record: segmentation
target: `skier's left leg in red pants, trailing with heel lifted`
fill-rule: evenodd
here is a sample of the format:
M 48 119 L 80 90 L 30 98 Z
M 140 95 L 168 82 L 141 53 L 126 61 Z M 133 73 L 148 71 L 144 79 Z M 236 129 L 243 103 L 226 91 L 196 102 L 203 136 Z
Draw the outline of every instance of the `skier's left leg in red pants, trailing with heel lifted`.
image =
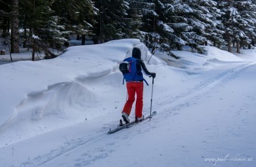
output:
M 135 100 L 135 87 L 133 82 L 127 82 L 127 93 L 128 93 L 128 100 L 125 103 L 125 106 L 123 107 L 123 112 L 125 112 L 127 115 L 130 115 L 131 113 L 131 107 L 133 106 L 133 102 Z

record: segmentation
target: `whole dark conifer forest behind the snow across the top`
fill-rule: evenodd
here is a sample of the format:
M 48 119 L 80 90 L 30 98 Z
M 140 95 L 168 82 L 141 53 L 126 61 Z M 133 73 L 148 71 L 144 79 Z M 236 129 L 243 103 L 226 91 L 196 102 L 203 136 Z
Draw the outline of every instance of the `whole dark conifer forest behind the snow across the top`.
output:
M 44 58 L 63 52 L 71 36 L 100 44 L 139 38 L 156 50 L 204 45 L 250 49 L 256 37 L 256 1 L 218 0 L 0 0 L 0 36 L 11 53 L 19 46 Z M 57 52 L 56 52 L 57 51 Z M 178 57 L 176 57 L 178 58 Z

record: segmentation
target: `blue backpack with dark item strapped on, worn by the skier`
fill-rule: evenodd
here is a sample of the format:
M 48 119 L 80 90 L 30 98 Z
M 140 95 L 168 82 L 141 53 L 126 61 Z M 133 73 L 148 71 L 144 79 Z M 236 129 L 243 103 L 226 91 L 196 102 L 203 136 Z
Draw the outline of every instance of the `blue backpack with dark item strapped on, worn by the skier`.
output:
M 142 70 L 137 71 L 137 58 L 129 57 L 123 60 L 119 65 L 119 70 L 123 74 L 123 84 L 130 81 L 143 80 L 147 85 L 147 81 L 143 78 Z

